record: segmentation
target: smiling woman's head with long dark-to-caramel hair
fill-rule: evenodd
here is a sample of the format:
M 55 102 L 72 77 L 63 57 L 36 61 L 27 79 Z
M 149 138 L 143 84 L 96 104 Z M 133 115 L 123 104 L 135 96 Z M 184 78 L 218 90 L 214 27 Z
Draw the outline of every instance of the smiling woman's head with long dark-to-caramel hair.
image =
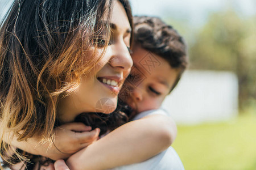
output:
M 1 133 L 7 164 L 26 159 L 8 144 L 13 137 L 53 142 L 56 124 L 96 112 L 98 101 L 109 99 L 112 107 L 101 111 L 114 111 L 132 65 L 130 6 L 119 2 L 126 15 L 112 10 L 112 0 L 14 1 L 0 30 L 1 130 L 12 134 L 4 142 Z

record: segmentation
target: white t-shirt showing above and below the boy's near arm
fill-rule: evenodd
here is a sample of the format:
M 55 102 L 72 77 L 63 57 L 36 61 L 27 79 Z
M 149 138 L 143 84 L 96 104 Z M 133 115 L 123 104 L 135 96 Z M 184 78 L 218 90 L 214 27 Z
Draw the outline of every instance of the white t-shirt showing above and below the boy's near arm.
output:
M 170 116 L 164 109 L 155 109 L 139 113 L 133 120 L 138 120 L 139 118 L 152 114 Z M 170 146 L 167 150 L 144 162 L 112 168 L 111 170 L 184 170 L 184 166 L 177 152 Z

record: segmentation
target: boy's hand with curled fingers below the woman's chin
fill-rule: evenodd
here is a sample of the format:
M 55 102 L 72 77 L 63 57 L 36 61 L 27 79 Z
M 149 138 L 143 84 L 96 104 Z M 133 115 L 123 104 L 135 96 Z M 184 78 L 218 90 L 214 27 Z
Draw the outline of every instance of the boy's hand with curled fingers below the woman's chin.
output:
M 53 160 L 67 159 L 75 152 L 98 139 L 100 129 L 92 130 L 82 123 L 69 123 L 55 128 L 55 141 L 48 148 L 47 157 Z

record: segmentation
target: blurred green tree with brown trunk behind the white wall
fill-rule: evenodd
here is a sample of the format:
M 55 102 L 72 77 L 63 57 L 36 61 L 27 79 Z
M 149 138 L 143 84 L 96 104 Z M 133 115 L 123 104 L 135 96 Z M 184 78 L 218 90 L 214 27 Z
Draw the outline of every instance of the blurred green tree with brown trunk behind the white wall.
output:
M 234 71 L 240 109 L 256 105 L 256 18 L 242 20 L 233 10 L 210 15 L 189 49 L 191 69 Z

